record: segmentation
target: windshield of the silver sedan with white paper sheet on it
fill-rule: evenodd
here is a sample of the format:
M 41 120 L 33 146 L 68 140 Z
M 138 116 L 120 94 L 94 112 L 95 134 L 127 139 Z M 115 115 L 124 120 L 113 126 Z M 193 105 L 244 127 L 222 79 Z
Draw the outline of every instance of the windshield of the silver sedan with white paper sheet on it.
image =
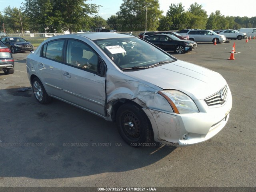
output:
M 112 38 L 94 40 L 121 70 L 149 68 L 156 64 L 175 61 L 140 38 Z

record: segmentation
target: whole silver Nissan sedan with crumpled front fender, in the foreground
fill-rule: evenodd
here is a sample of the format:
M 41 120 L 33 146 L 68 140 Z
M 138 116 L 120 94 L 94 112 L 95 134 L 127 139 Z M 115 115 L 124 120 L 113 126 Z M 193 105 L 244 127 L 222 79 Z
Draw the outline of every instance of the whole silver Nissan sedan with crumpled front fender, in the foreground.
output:
M 204 142 L 222 130 L 232 108 L 220 74 L 125 34 L 55 36 L 26 65 L 39 103 L 56 98 L 116 122 L 134 147 L 150 146 L 152 138 L 174 146 Z

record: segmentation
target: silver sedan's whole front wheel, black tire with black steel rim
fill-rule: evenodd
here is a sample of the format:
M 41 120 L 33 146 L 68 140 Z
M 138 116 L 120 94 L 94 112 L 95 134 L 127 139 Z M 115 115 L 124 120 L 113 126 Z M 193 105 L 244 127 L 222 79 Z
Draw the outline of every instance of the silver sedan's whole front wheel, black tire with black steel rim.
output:
M 120 106 L 116 114 L 118 132 L 133 147 L 143 146 L 152 140 L 153 131 L 146 114 L 136 104 Z

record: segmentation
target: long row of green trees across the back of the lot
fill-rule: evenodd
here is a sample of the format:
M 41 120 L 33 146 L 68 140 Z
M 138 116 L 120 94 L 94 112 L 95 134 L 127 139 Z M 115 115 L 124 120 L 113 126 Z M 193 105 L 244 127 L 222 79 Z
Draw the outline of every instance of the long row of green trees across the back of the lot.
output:
M 6 33 L 94 31 L 100 27 L 117 31 L 214 30 L 251 28 L 254 22 L 256 27 L 256 17 L 224 16 L 219 10 L 208 16 L 196 2 L 188 10 L 184 10 L 182 3 L 170 4 L 164 16 L 158 0 L 123 0 L 120 10 L 105 20 L 97 15 L 101 6 L 87 1 L 25 0 L 20 8 L 8 6 L 0 12 L 0 30 L 3 27 Z

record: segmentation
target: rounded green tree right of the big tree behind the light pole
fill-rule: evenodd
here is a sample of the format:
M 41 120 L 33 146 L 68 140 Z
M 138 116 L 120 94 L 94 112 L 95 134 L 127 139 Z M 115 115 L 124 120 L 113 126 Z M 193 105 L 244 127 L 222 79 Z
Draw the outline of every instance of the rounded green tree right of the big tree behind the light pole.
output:
M 189 26 L 188 14 L 186 14 L 182 3 L 171 4 L 166 13 L 166 17 L 169 22 L 172 22 L 172 26 L 169 30 L 182 30 Z

